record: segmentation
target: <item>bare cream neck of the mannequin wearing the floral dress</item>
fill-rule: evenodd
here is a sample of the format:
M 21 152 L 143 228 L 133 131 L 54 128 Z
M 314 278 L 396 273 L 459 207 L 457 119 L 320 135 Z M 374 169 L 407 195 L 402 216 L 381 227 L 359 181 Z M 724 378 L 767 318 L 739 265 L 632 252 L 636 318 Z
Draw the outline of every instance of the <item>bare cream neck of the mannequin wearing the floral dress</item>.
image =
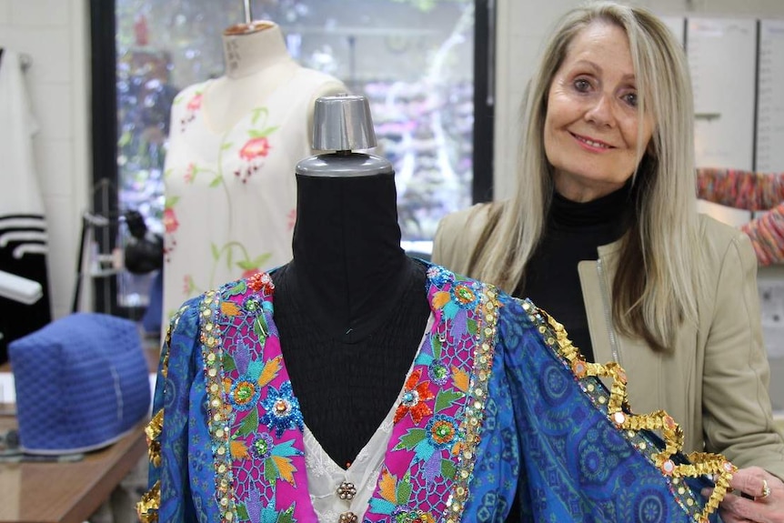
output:
M 272 22 L 232 25 L 223 34 L 226 76 L 242 78 L 275 65 L 291 65 L 280 26 Z

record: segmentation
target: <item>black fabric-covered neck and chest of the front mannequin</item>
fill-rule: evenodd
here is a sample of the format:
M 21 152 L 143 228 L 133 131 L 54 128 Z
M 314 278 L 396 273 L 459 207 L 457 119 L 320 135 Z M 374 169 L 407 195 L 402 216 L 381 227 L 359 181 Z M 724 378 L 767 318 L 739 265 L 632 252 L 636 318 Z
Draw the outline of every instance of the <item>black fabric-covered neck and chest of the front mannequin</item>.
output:
M 307 427 L 346 468 L 394 407 L 430 313 L 394 175 L 297 175 L 293 251 L 272 274 L 281 349 Z

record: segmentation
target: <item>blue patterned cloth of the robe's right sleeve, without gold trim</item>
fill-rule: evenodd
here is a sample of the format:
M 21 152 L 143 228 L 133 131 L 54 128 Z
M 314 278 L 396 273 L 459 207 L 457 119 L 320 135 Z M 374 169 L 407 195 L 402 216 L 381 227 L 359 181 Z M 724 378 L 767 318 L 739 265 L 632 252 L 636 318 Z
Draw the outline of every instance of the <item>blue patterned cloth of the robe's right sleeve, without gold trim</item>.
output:
M 528 335 L 521 304 L 507 299 L 505 307 L 500 337 L 523 448 L 525 520 L 690 521 L 670 480 L 594 405 L 564 362 Z M 712 484 L 706 478 L 694 488 L 702 487 Z

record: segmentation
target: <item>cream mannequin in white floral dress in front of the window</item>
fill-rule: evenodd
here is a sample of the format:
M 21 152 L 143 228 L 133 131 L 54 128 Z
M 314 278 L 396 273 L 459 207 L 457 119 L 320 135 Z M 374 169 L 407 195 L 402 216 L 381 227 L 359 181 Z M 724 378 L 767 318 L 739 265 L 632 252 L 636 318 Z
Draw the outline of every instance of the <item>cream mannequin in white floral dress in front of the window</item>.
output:
M 234 25 L 226 74 L 183 89 L 166 153 L 163 325 L 189 297 L 291 258 L 295 166 L 319 96 L 347 92 L 286 51 L 278 25 Z

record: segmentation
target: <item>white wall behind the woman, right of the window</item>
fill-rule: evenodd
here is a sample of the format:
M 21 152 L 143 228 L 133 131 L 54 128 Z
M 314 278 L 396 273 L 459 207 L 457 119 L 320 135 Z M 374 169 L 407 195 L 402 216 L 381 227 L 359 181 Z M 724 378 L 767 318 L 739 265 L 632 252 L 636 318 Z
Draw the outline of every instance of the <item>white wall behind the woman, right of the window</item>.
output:
M 558 16 L 582 3 L 583 0 L 496 0 L 496 195 L 508 195 L 513 188 L 519 106 L 542 42 Z M 662 16 L 784 18 L 782 0 L 641 0 L 635 4 L 646 6 Z

